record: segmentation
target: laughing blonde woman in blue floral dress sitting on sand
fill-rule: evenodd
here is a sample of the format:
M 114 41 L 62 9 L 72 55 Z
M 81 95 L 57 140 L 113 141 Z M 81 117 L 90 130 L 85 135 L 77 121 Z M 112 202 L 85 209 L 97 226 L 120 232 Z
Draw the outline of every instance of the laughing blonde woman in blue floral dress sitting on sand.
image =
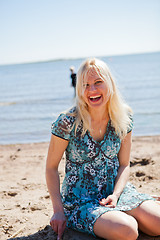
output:
M 61 238 L 66 224 L 104 239 L 160 234 L 160 206 L 127 182 L 132 111 L 106 64 L 88 59 L 77 74 L 76 107 L 52 124 L 46 180 Z M 58 165 L 66 153 L 60 194 Z

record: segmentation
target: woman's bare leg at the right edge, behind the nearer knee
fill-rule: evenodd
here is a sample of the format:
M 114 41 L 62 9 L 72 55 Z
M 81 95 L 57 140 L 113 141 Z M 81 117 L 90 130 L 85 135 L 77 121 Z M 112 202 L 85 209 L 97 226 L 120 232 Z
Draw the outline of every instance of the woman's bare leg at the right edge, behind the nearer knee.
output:
M 127 212 L 133 216 L 138 227 L 151 236 L 160 235 L 160 205 L 152 200 L 144 201 L 137 208 Z

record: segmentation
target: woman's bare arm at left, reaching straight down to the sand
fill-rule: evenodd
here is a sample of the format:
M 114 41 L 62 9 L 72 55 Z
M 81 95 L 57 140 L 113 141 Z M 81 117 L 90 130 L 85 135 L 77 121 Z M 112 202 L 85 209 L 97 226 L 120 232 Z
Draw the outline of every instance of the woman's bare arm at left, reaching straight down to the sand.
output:
M 61 238 L 64 232 L 66 226 L 66 218 L 64 215 L 62 200 L 60 196 L 58 166 L 63 153 L 67 148 L 67 145 L 67 140 L 52 135 L 46 162 L 46 182 L 54 211 L 50 224 L 53 230 L 58 234 L 59 238 Z

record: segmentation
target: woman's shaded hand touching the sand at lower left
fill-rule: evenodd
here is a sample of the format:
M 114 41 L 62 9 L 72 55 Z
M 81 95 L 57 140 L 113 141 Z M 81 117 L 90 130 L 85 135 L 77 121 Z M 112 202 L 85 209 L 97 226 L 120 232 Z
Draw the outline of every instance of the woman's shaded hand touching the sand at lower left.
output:
M 53 214 L 50 225 L 54 232 L 58 234 L 57 240 L 60 240 L 66 227 L 66 217 L 63 212 Z

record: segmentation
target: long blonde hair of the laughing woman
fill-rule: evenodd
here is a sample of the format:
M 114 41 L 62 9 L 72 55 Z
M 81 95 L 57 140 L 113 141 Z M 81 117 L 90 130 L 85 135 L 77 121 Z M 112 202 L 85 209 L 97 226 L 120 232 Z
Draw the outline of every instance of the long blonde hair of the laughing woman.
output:
M 123 139 L 131 124 L 130 115 L 132 114 L 132 110 L 124 102 L 106 63 L 96 58 L 90 58 L 84 61 L 77 73 L 75 131 L 81 122 L 83 122 L 82 135 L 84 135 L 87 130 L 91 130 L 91 117 L 83 94 L 85 90 L 84 81 L 88 77 L 89 71 L 92 70 L 94 70 L 94 72 L 96 71 L 108 87 L 109 99 L 107 108 L 111 124 L 115 128 L 117 135 Z

